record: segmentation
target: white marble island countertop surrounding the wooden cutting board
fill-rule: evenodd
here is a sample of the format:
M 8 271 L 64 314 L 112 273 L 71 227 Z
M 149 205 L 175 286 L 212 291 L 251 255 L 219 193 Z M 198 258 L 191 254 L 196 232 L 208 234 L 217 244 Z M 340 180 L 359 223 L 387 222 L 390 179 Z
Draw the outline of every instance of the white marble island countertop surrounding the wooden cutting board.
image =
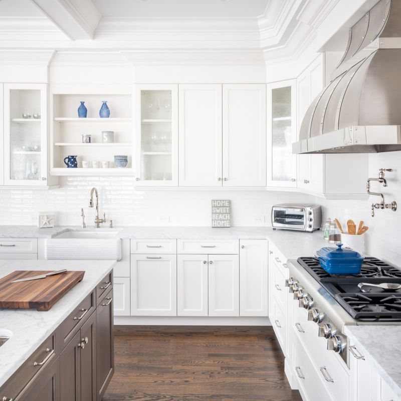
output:
M 0 347 L 0 387 L 113 268 L 113 261 L 0 260 L 0 278 L 15 270 L 84 270 L 83 280 L 46 312 L 0 309 L 0 330 L 13 336 Z

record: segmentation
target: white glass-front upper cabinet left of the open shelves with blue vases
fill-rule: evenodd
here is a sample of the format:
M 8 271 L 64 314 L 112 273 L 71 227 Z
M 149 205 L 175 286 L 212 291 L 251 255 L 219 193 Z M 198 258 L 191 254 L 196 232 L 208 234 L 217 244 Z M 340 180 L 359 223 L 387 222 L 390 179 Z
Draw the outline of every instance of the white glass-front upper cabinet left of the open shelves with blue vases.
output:
M 47 85 L 4 84 L 4 184 L 47 186 Z

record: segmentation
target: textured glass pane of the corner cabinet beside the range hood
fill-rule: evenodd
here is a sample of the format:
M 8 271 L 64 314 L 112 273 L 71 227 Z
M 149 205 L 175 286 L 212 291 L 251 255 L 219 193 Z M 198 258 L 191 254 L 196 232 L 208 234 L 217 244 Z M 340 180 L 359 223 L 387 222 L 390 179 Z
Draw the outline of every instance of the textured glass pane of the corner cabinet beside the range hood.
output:
M 291 181 L 292 168 L 291 87 L 272 90 L 272 179 Z

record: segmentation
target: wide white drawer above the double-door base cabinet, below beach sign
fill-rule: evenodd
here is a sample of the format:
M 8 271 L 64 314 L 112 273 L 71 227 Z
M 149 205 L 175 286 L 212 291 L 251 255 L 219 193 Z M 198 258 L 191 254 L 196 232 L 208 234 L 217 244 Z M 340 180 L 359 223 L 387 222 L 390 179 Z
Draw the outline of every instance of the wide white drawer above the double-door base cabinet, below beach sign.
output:
M 239 253 L 239 250 L 240 240 L 177 241 L 177 254 L 236 255 Z

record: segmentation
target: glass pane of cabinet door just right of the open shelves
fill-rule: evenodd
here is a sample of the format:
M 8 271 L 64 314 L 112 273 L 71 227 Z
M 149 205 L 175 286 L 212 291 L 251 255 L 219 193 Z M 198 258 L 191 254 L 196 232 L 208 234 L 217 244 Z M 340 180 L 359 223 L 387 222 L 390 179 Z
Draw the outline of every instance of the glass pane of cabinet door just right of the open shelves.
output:
M 171 91 L 141 91 L 141 179 L 172 179 Z

